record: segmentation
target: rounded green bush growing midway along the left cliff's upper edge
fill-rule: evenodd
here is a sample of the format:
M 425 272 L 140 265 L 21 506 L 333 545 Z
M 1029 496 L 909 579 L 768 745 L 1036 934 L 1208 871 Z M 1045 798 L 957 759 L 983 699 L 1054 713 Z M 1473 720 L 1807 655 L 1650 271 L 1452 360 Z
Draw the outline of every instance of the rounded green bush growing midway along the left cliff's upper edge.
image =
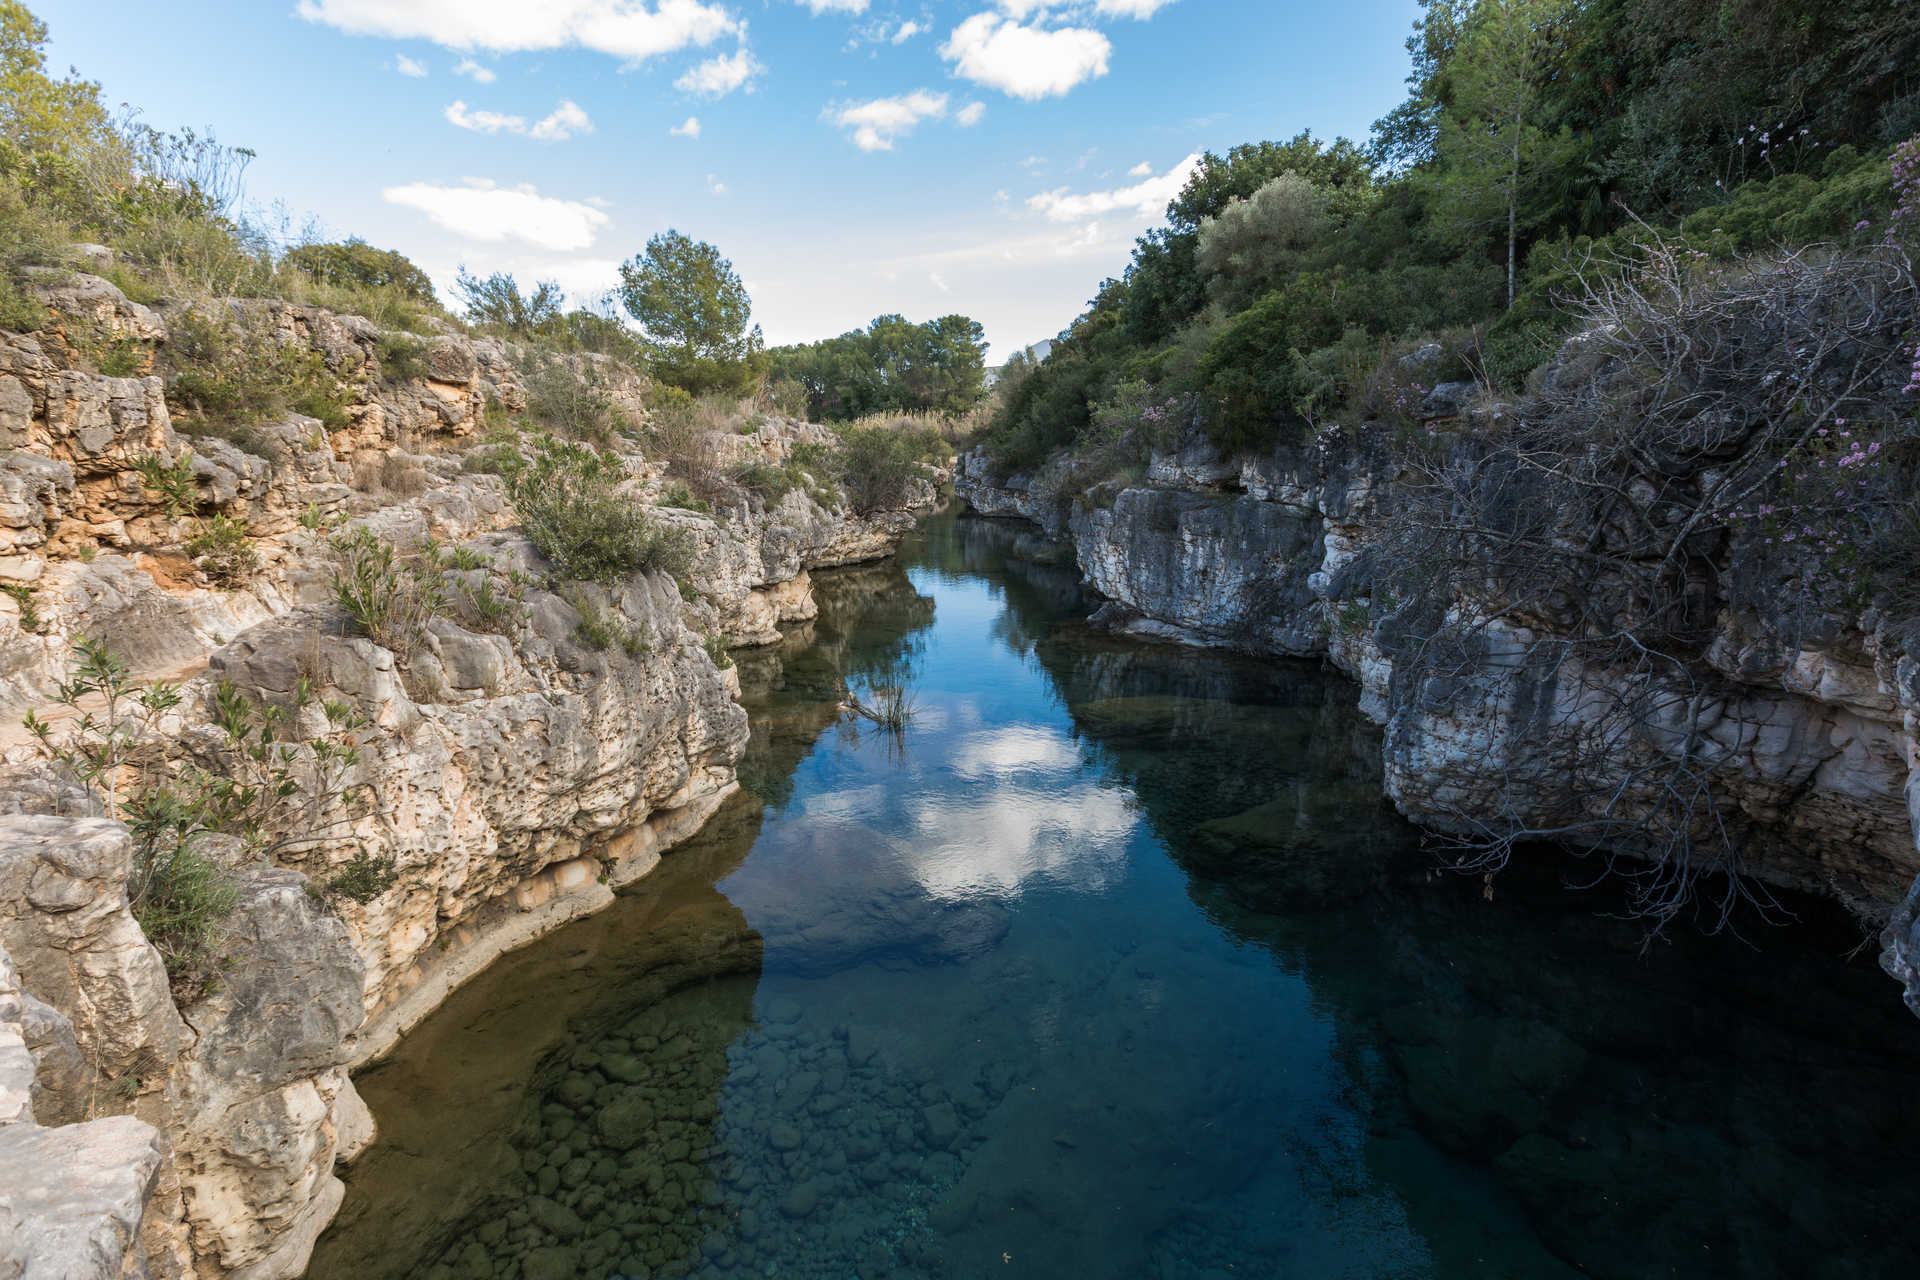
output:
M 536 436 L 505 478 L 526 537 L 563 581 L 616 583 L 651 570 L 678 578 L 691 564 L 691 539 L 659 528 L 620 491 L 620 461 L 591 445 Z

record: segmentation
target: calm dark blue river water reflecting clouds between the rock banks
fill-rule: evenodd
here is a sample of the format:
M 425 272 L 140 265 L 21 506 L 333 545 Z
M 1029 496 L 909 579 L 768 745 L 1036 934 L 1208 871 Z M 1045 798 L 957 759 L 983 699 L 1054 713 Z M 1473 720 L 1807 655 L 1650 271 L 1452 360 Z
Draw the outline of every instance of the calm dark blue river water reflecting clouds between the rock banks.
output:
M 820 578 L 753 798 L 363 1080 L 315 1274 L 1910 1265 L 1920 1027 L 1828 912 L 1642 954 L 1548 860 L 1434 877 L 1342 681 L 1089 635 L 1035 551 Z

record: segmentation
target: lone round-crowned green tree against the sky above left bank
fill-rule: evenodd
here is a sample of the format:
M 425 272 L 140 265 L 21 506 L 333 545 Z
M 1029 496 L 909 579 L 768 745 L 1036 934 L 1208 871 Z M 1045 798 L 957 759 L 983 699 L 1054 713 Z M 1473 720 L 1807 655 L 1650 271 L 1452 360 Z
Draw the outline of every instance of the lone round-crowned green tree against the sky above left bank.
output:
M 701 391 L 745 391 L 758 368 L 760 328 L 733 263 L 710 244 L 668 230 L 620 265 L 620 301 L 639 324 L 653 372 Z

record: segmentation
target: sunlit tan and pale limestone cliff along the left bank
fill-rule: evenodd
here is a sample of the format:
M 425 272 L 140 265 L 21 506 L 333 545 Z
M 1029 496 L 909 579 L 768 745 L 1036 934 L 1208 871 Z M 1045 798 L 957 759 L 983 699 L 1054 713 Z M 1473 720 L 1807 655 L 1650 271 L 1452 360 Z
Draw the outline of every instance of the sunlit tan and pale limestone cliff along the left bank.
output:
M 324 839 L 273 865 L 204 842 L 238 908 L 198 996 L 169 990 L 136 921 L 127 829 L 0 729 L 0 1276 L 298 1276 L 340 1207 L 336 1163 L 374 1138 L 349 1069 L 699 831 L 737 789 L 747 741 L 737 674 L 714 654 L 812 618 L 808 570 L 885 557 L 914 518 L 828 510 L 814 486 L 712 516 L 653 507 L 662 466 L 630 457 L 632 501 L 693 543 L 687 581 L 555 583 L 511 532 L 499 476 L 467 470 L 459 449 L 555 365 L 636 422 L 643 378 L 601 357 L 223 303 L 315 353 L 344 422 L 207 432 L 169 413 L 161 378 L 81 359 L 102 336 L 165 347 L 177 313 L 84 274 L 44 297 L 46 330 L 0 334 L 0 581 L 21 587 L 0 595 L 0 723 L 44 704 L 88 637 L 136 677 L 179 681 L 157 725 L 179 741 L 215 741 L 217 685 L 284 708 L 290 737 L 317 733 L 328 700 L 365 727 L 351 800 L 313 819 Z M 396 342 L 415 376 L 384 376 Z M 818 438 L 772 418 L 716 432 L 708 451 L 780 466 Z M 198 518 L 246 522 L 250 581 L 221 585 L 179 551 L 196 526 L 142 461 L 184 462 Z M 459 549 L 449 606 L 405 658 L 334 604 L 326 539 L 353 526 Z M 468 589 L 518 604 L 488 618 L 459 604 Z M 620 643 L 591 639 L 589 614 Z M 355 860 L 392 883 L 334 890 Z

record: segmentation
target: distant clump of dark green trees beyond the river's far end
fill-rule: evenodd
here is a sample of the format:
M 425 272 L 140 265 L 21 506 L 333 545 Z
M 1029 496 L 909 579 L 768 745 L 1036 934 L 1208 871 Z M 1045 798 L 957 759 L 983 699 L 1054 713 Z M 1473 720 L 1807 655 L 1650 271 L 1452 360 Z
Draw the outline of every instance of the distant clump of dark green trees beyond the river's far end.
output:
M 966 413 L 985 393 L 985 330 L 964 315 L 925 324 L 883 315 L 864 330 L 768 351 L 787 405 L 814 422 L 870 413 Z

